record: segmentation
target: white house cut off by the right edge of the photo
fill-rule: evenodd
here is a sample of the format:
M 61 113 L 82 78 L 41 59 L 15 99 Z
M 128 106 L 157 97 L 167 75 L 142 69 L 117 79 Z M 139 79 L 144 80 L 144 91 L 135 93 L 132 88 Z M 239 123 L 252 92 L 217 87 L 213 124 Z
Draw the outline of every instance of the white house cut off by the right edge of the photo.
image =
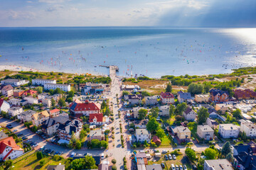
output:
M 256 125 L 250 120 L 240 120 L 240 132 L 245 132 L 247 137 L 256 136 Z

